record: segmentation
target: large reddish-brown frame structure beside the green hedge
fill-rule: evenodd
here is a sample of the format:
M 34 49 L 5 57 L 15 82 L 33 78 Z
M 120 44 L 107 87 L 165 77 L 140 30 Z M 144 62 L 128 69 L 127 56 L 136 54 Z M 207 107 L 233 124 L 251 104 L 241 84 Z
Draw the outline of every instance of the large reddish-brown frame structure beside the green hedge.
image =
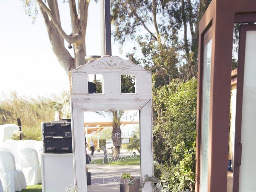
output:
M 208 191 L 227 189 L 227 154 L 234 23 L 256 22 L 255 0 L 212 0 L 199 26 L 196 192 L 200 192 L 204 34 L 212 26 Z M 202 191 L 201 191 L 202 192 Z

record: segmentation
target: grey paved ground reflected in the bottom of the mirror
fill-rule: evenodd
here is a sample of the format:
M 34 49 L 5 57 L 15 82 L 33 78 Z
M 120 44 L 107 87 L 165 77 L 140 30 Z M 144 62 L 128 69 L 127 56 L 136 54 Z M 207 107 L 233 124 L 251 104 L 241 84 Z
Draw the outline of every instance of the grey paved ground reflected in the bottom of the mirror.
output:
M 88 192 L 119 192 L 122 173 L 129 172 L 132 176 L 140 176 L 139 165 L 98 165 L 88 164 L 91 172 L 91 185 Z

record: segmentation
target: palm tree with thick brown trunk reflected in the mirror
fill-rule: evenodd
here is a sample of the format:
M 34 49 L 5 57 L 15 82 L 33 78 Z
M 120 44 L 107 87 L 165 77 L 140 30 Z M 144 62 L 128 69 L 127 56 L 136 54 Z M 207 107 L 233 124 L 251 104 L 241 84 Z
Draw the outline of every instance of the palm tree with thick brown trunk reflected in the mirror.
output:
M 112 125 L 112 140 L 113 140 L 113 158 L 116 160 L 120 154 L 120 146 L 122 144 L 122 131 L 120 129 L 121 119 L 124 116 L 124 111 L 98 111 L 97 114 L 104 116 L 110 120 Z

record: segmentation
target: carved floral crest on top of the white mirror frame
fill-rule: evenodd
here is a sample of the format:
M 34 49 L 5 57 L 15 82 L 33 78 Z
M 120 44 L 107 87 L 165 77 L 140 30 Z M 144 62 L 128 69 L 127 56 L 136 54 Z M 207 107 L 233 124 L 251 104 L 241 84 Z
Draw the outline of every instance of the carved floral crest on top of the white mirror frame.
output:
M 122 61 L 116 62 L 113 59 L 106 60 L 106 62 L 99 61 L 98 64 L 92 65 L 95 69 L 122 69 L 126 70 L 131 68 L 130 65 L 125 64 Z

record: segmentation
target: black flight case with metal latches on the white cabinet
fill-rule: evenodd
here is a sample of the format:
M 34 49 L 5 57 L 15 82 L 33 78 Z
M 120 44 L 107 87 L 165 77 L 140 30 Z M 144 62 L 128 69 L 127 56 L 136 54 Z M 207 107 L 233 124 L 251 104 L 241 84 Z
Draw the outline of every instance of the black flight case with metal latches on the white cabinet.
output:
M 42 122 L 44 153 L 72 153 L 71 122 Z

